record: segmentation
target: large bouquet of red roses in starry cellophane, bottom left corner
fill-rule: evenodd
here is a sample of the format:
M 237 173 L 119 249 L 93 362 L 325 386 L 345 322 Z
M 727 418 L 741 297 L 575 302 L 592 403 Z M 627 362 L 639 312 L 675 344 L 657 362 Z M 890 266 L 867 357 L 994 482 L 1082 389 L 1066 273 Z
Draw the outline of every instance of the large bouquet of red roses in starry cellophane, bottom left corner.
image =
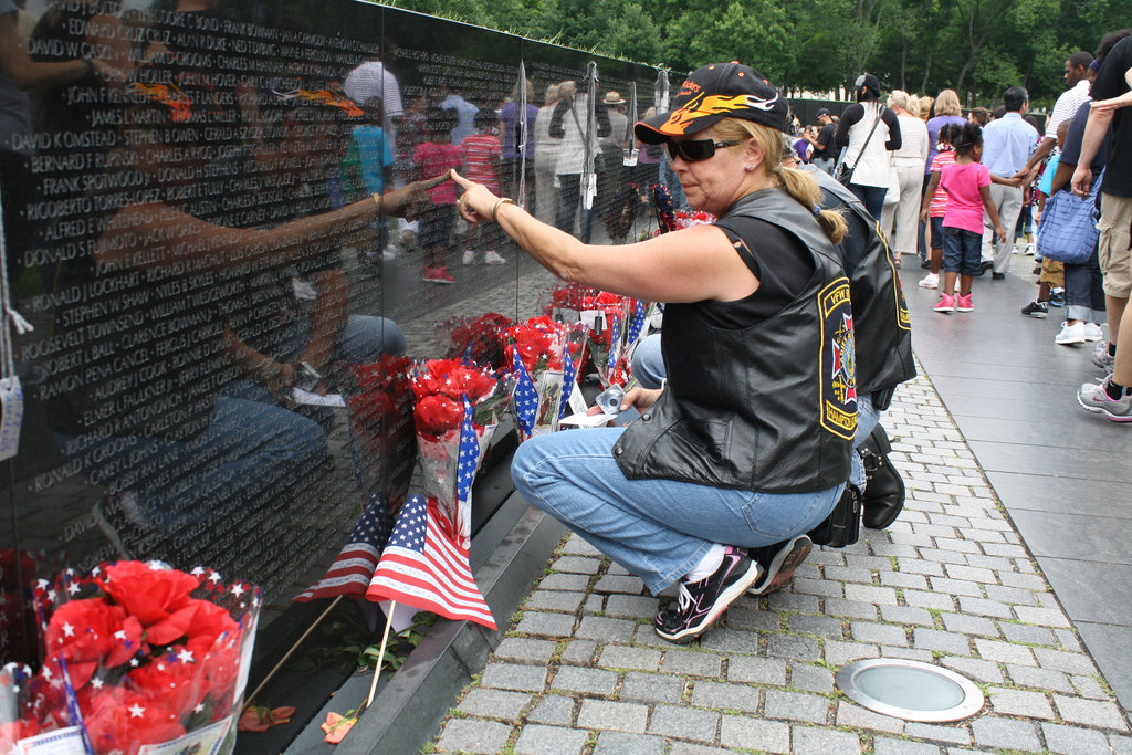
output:
M 40 580 L 32 602 L 42 660 L 34 672 L 0 670 L 0 753 L 65 727 L 80 727 L 96 755 L 194 732 L 234 746 L 258 587 L 203 567 L 112 561 Z

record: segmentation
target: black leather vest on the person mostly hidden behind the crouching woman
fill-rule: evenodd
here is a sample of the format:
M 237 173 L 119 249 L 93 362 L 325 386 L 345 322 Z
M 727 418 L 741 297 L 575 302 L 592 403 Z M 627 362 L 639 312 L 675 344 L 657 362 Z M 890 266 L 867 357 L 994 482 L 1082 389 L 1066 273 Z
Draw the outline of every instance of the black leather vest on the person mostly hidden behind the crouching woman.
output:
M 825 171 L 801 169 L 822 187 L 822 206 L 844 208 L 849 234 L 838 244 L 857 335 L 857 391 L 873 396 L 877 410 L 887 409 L 892 389 L 916 377 L 912 331 L 900 276 L 880 224 L 865 205 Z

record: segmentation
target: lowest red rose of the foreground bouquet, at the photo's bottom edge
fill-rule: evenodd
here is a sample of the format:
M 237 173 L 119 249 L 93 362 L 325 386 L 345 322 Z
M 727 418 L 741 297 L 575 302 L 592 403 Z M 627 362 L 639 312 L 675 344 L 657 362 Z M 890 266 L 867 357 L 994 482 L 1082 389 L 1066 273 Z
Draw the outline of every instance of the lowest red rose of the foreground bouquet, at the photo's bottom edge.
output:
M 185 736 L 174 711 L 143 693 L 106 687 L 92 695 L 83 723 L 94 752 L 134 755 L 142 745 L 156 745 Z

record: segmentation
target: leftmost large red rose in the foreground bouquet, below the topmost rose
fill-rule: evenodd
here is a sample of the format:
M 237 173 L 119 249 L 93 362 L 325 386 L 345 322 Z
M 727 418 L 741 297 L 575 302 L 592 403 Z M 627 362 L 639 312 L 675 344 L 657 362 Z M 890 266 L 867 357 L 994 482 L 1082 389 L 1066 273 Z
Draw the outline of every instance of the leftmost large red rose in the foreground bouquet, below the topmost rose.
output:
M 142 623 L 102 598 L 72 600 L 51 615 L 45 643 L 67 662 L 78 689 L 100 666 L 121 666 L 143 649 Z

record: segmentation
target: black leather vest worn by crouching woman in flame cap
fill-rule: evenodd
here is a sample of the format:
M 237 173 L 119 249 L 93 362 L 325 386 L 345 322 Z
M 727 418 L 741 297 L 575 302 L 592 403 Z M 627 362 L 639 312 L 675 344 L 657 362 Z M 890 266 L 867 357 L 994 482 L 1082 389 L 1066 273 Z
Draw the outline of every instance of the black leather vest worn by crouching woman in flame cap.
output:
M 786 192 L 748 195 L 719 222 L 743 215 L 797 237 L 814 275 L 784 309 L 747 328 L 712 326 L 704 302 L 666 307 L 668 383 L 614 446 L 631 480 L 812 492 L 849 475 L 857 427 L 849 282 L 817 222 Z

